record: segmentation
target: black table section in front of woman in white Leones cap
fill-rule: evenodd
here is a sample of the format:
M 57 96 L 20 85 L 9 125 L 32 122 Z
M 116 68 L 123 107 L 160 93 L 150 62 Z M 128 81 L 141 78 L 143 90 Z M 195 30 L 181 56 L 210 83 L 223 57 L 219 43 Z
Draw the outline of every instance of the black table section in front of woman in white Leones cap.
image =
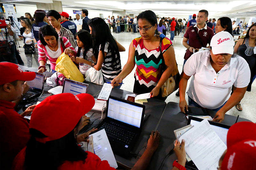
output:
M 212 117 L 214 117 L 216 112 L 209 110 L 209 113 Z M 225 115 L 225 119 L 222 123 L 232 126 L 236 122 L 236 118 L 237 118 L 236 116 Z M 237 122 L 243 122 L 243 121 L 251 122 L 247 119 L 240 118 L 240 117 L 238 118 Z M 161 134 L 159 147 L 151 159 L 151 163 L 148 166 L 149 169 L 156 170 L 160 167 L 162 160 L 171 151 L 171 149 L 174 146 L 173 142 L 176 139 L 176 137 L 173 131 L 175 129 L 179 129 L 183 126 L 186 126 L 187 122 L 188 122 L 188 119 L 185 116 L 185 114 L 180 112 L 179 103 L 175 103 L 175 102 L 167 103 L 167 106 L 163 113 L 163 117 L 160 120 L 159 125 L 157 127 L 157 130 Z M 164 160 L 162 170 L 172 169 L 172 163 L 176 159 L 177 157 L 173 152 L 169 157 L 167 157 Z

